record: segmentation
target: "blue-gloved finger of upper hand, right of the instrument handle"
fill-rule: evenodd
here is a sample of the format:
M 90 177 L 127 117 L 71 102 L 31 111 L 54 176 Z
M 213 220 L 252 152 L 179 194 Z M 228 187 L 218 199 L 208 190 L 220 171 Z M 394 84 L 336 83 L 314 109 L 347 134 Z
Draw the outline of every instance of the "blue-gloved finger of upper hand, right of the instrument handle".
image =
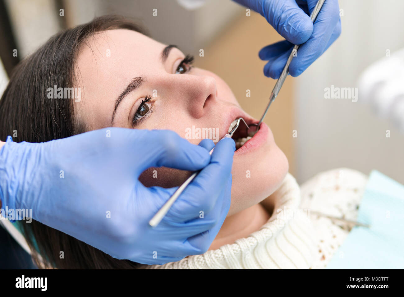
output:
M 308 4 L 311 2 L 309 0 Z M 334 42 L 340 34 L 341 21 L 338 2 L 336 0 L 326 1 L 314 23 L 313 34 L 305 44 L 299 47 L 297 57 L 293 58 L 290 63 L 290 75 L 300 75 L 324 53 L 330 43 Z

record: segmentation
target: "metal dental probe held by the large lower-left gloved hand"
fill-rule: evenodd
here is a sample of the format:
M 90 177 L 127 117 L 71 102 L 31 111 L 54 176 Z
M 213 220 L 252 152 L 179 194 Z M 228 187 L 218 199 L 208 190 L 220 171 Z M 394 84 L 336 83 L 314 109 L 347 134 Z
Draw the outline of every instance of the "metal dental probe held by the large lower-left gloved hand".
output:
M 238 126 L 240 125 L 240 121 L 243 121 L 244 124 L 246 124 L 247 129 L 249 129 L 247 123 L 244 121 L 243 118 L 238 118 L 237 120 L 234 120 L 229 129 L 231 128 L 231 131 L 227 131 L 227 134 L 223 136 L 220 140 L 225 139 L 225 138 L 231 138 L 233 136 L 234 132 L 236 132 Z M 215 147 L 213 147 L 212 150 L 210 150 L 209 155 L 212 155 L 213 150 L 215 150 Z M 149 221 L 149 225 L 151 227 L 156 227 L 160 221 L 163 219 L 163 217 L 166 215 L 168 210 L 170 209 L 171 205 L 177 200 L 177 198 L 181 195 L 181 193 L 185 190 L 187 185 L 200 173 L 200 171 L 195 171 L 188 179 L 174 192 L 173 196 L 170 197 L 170 199 L 167 200 L 166 203 L 161 207 L 161 209 L 154 215 L 154 217 L 151 218 Z

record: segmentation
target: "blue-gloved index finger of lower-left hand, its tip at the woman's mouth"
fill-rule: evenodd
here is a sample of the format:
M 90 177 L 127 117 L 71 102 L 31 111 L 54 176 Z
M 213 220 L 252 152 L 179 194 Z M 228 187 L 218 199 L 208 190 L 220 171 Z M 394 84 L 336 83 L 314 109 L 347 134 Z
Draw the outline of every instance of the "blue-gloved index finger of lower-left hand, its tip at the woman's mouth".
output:
M 186 222 L 199 217 L 200 211 L 209 213 L 215 208 L 231 175 L 235 149 L 233 139 L 225 138 L 217 143 L 211 162 L 198 173 L 171 206 L 167 213 L 170 220 Z

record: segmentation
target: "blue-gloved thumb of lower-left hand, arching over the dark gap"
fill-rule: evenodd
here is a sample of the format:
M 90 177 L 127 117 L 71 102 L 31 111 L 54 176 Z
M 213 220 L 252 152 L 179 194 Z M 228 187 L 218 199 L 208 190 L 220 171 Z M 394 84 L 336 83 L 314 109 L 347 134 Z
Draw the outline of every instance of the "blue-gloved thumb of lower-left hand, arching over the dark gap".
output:
M 136 177 L 149 167 L 166 166 L 196 171 L 205 167 L 210 161 L 209 152 L 205 148 L 191 144 L 173 131 L 147 131 L 141 141 L 145 143 L 147 150 L 142 158 L 137 156 L 137 162 L 134 164 Z

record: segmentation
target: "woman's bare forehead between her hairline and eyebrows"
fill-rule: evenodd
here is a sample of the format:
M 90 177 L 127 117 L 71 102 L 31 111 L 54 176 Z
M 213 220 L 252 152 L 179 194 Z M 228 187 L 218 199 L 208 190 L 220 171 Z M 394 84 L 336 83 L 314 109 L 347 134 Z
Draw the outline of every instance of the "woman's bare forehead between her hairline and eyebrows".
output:
M 139 32 L 116 29 L 100 32 L 82 45 L 76 60 L 76 83 L 82 99 L 76 117 L 88 129 L 109 126 L 115 99 L 137 76 L 153 78 L 164 70 L 165 45 Z

